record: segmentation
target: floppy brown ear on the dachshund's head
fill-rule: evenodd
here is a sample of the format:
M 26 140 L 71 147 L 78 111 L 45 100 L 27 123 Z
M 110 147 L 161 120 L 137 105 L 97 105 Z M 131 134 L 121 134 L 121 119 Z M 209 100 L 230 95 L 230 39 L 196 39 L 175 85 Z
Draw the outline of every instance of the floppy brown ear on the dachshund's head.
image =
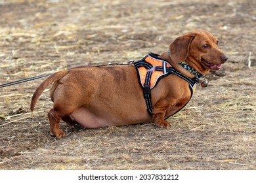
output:
M 188 57 L 189 46 L 195 36 L 195 34 L 184 34 L 171 42 L 170 54 L 174 62 L 182 62 Z

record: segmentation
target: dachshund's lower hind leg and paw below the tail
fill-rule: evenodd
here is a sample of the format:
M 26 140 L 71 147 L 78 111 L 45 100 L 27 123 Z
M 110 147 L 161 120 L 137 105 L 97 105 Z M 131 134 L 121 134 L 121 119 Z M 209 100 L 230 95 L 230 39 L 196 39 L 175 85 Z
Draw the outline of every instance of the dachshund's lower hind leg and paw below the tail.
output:
M 60 120 L 62 119 L 61 116 L 57 114 L 53 108 L 48 112 L 48 118 L 50 122 L 50 127 L 51 127 L 51 135 L 57 137 L 60 139 L 61 137 L 64 137 L 66 134 L 62 129 L 59 127 Z

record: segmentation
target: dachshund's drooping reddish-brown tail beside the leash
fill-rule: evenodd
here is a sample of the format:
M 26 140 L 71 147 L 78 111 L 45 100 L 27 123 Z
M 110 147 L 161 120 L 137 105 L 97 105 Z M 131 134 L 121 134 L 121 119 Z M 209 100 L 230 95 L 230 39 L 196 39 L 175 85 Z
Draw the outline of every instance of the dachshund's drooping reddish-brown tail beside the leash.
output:
M 44 80 L 35 90 L 35 93 L 33 93 L 33 97 L 30 103 L 30 110 L 33 112 L 33 109 L 35 108 L 35 104 L 37 103 L 40 95 L 43 93 L 43 90 L 47 88 L 50 84 L 53 82 L 60 80 L 60 78 L 66 76 L 68 74 L 68 70 L 66 71 L 60 71 L 58 73 L 54 73 L 53 75 L 49 76 L 46 80 Z

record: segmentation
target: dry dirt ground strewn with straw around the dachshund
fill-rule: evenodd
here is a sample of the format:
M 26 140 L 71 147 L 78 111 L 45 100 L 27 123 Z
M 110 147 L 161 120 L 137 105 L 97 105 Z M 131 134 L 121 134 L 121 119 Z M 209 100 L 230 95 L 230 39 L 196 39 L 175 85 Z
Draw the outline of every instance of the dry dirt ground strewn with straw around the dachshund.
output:
M 228 62 L 168 121 L 49 135 L 43 78 L 0 88 L 0 169 L 256 169 L 256 1 L 0 1 L 0 84 L 167 52 L 182 33 L 218 37 Z M 249 56 L 251 54 L 251 56 Z M 249 61 L 250 60 L 250 61 Z

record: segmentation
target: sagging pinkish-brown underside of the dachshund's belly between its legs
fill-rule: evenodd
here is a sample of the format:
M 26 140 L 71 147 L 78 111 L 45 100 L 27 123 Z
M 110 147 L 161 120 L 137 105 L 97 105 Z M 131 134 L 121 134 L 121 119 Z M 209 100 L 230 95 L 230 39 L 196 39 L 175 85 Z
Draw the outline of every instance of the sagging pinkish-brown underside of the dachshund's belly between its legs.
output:
M 141 124 L 143 122 L 151 122 L 152 119 L 148 115 L 134 116 L 129 115 L 130 118 L 121 118 L 120 116 L 112 116 L 109 113 L 98 116 L 94 112 L 87 110 L 85 107 L 77 108 L 70 116 L 75 122 L 87 128 L 107 127 L 110 125 L 133 125 Z

